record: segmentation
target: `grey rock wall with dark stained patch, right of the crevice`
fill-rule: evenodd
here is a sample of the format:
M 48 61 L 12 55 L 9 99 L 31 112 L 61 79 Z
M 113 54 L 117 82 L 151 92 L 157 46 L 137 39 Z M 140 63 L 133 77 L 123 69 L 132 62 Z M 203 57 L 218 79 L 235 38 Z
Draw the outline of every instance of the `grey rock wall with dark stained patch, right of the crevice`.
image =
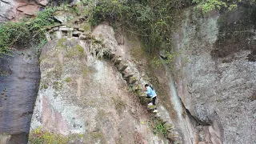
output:
M 213 143 L 253 143 L 256 62 L 254 10 L 196 16 L 186 10 L 174 34 L 178 94 L 191 114 L 207 122 Z M 179 72 L 178 72 L 179 71 Z

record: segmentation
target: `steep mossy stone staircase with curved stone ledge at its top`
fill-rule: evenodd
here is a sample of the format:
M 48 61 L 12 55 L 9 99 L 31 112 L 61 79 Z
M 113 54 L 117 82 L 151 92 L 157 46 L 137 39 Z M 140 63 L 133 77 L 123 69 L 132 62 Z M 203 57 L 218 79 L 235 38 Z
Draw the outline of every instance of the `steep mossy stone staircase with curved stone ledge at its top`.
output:
M 63 38 L 73 38 L 74 39 L 80 39 L 80 43 L 88 43 L 88 42 L 102 42 L 102 40 L 97 39 L 97 34 L 96 35 L 90 35 L 90 32 L 88 33 L 88 30 L 84 30 L 82 28 L 80 28 L 81 26 L 66 26 L 64 24 L 62 25 L 57 25 L 57 26 L 50 26 L 48 27 L 48 32 L 46 33 L 46 38 L 49 42 L 52 41 L 56 41 L 58 39 L 60 39 L 62 41 Z M 94 33 L 95 34 L 95 33 Z M 67 39 L 66 39 L 67 40 Z M 103 42 L 104 43 L 104 42 Z M 106 46 L 108 47 L 108 44 L 103 44 L 102 46 Z M 124 42 L 122 43 L 118 43 L 119 44 L 124 44 Z M 86 46 L 86 45 L 85 45 Z M 111 43 L 111 46 L 113 46 L 113 43 Z M 129 61 L 126 60 L 126 58 L 122 58 L 122 54 L 118 54 L 118 52 L 116 51 L 116 48 L 109 46 L 109 50 L 107 50 L 107 52 L 103 55 L 106 59 L 109 59 L 110 62 L 113 63 L 113 66 L 116 67 L 116 69 L 118 70 L 118 72 L 122 75 L 123 80 L 126 81 L 126 85 L 127 88 L 130 90 L 130 92 L 132 92 L 135 96 L 138 97 L 139 102 L 142 103 L 142 105 L 146 106 L 146 109 L 149 112 L 153 112 L 153 110 L 156 108 L 156 106 L 147 106 L 147 104 L 152 100 L 152 98 L 146 98 L 146 94 L 144 94 L 142 92 L 142 85 L 144 82 L 144 80 L 141 78 L 141 76 L 139 75 L 139 73 L 137 72 L 138 70 L 134 70 L 134 67 L 130 64 Z M 103 48 L 102 47 L 102 48 Z M 83 49 L 86 49 L 88 47 L 83 47 Z M 87 54 L 93 54 L 93 53 L 100 53 L 100 50 L 85 50 L 87 51 Z M 89 53 L 88 53 L 89 52 Z M 43 52 L 46 53 L 46 52 Z M 87 55 L 86 54 L 86 55 Z M 97 55 L 97 54 L 93 54 L 93 55 Z M 62 55 L 63 58 L 63 55 Z M 63 61 L 63 60 L 62 60 Z M 61 62 L 62 62 L 61 61 Z M 44 65 L 41 65 L 42 69 L 45 69 L 43 67 Z M 43 76 L 42 76 L 43 77 Z M 41 84 L 42 85 L 42 84 Z M 48 86 L 47 86 L 48 87 Z M 79 94 L 80 95 L 80 94 Z M 42 99 L 42 98 L 40 98 Z M 40 104 L 42 105 L 42 104 Z M 35 110 L 35 115 L 39 115 L 40 117 L 44 117 L 44 114 L 38 114 L 40 110 Z M 168 127 L 168 132 L 170 134 L 167 134 L 167 138 L 171 139 L 171 141 L 178 141 L 180 139 L 176 139 L 178 138 L 177 136 L 174 135 L 174 130 L 173 130 L 173 124 L 168 122 L 168 120 L 166 120 L 166 118 L 161 118 L 161 114 L 159 112 L 157 113 L 152 113 L 154 115 L 155 118 L 158 119 L 159 122 L 163 122 L 165 124 L 166 127 Z M 36 118 L 38 119 L 38 118 Z M 55 119 L 55 120 L 54 120 Z M 57 118 L 53 118 L 51 119 L 51 121 L 56 121 Z M 40 126 L 37 125 L 36 121 L 34 119 L 34 123 L 32 123 L 32 130 L 34 130 L 36 127 Z M 34 125 L 35 124 L 35 125 Z M 64 126 L 66 127 L 66 126 Z M 61 130 L 62 128 L 59 127 L 59 130 Z M 70 128 L 66 128 L 66 130 L 70 130 Z M 72 130 L 70 130 L 72 131 Z M 176 133 L 175 133 L 176 134 Z

